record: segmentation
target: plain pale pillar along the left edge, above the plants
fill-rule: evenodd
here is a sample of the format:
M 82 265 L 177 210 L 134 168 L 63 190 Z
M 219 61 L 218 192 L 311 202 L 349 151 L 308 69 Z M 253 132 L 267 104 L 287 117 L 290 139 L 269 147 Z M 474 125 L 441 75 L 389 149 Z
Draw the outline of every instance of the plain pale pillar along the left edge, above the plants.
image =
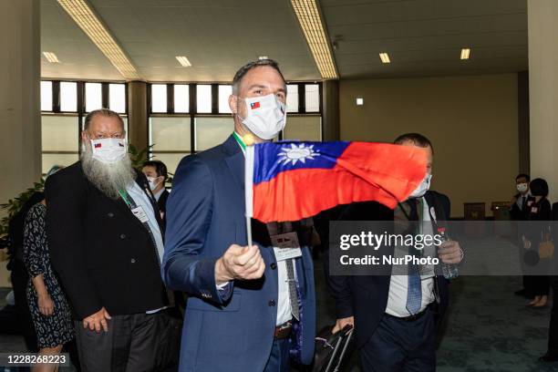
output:
M 1 203 L 41 177 L 39 33 L 39 0 L 0 1 Z M 7 277 L 0 263 L 0 286 Z

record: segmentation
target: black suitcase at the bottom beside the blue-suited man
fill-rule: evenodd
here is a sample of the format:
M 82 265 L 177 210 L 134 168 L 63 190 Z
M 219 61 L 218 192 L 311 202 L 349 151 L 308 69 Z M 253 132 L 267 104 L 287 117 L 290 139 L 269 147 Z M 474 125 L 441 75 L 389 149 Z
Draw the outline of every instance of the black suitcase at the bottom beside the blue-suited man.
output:
M 315 359 L 313 372 L 340 372 L 355 349 L 353 327 L 331 334 L 332 325 L 325 326 L 315 337 Z

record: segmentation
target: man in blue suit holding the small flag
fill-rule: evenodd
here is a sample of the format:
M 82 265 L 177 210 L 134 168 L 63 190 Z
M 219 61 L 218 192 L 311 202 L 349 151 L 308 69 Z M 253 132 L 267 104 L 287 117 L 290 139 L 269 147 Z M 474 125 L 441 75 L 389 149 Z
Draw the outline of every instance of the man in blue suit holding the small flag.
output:
M 280 248 L 272 246 L 280 233 L 296 233 L 297 223 L 253 221 L 252 246 L 246 237 L 243 139 L 274 139 L 284 129 L 285 102 L 285 81 L 274 61 L 242 67 L 229 98 L 233 135 L 184 158 L 176 171 L 161 271 L 170 288 L 190 295 L 182 372 L 287 371 L 292 357 L 312 361 L 311 255 L 300 242 L 302 249 L 289 250 L 296 254 L 277 260 Z

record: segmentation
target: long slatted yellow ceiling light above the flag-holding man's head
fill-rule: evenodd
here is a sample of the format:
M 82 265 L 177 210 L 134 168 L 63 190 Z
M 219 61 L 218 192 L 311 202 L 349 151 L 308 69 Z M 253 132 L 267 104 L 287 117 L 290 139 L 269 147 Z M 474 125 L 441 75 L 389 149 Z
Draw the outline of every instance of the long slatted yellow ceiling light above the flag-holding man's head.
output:
M 291 0 L 291 4 L 320 75 L 324 79 L 338 78 L 336 62 L 332 56 L 329 38 L 325 34 L 326 29 L 316 0 Z

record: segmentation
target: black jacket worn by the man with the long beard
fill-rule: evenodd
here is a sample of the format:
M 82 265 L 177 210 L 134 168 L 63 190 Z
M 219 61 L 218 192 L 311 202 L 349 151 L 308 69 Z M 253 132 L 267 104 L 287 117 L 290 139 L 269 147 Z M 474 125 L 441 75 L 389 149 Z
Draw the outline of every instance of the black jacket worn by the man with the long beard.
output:
M 145 176 L 136 181 L 159 218 Z M 78 319 L 103 306 L 129 315 L 167 305 L 156 247 L 125 202 L 98 191 L 80 162 L 49 177 L 45 191 L 51 260 Z

